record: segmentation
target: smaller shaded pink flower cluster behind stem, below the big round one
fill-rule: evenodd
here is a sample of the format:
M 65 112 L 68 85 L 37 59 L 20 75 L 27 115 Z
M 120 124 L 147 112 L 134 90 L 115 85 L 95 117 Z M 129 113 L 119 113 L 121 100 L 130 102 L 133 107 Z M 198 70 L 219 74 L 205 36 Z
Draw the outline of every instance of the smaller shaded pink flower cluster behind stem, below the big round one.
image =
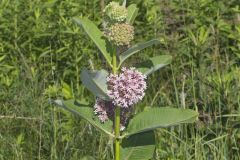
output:
M 111 101 L 104 101 L 99 98 L 96 99 L 96 103 L 94 105 L 94 113 L 98 116 L 99 120 L 104 123 L 107 120 L 111 119 L 114 121 L 114 113 L 115 106 Z M 125 125 L 127 124 L 130 110 L 127 108 L 121 109 L 120 116 L 120 130 L 123 131 L 125 129 Z

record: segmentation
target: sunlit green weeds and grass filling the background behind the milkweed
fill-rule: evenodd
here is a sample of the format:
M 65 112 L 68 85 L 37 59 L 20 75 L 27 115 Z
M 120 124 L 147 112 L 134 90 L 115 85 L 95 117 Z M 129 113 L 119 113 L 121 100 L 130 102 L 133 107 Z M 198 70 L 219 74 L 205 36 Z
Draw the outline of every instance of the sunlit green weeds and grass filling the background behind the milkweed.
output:
M 87 16 L 101 27 L 101 11 L 108 2 L 0 1 L 0 160 L 112 159 L 102 133 L 48 101 L 94 101 L 81 86 L 80 70 L 105 62 L 72 18 Z M 150 76 L 141 105 L 200 113 L 193 125 L 156 132 L 155 159 L 239 159 L 240 2 L 127 3 L 140 8 L 135 41 L 162 42 L 139 53 L 140 58 L 163 53 L 174 57 L 170 66 Z

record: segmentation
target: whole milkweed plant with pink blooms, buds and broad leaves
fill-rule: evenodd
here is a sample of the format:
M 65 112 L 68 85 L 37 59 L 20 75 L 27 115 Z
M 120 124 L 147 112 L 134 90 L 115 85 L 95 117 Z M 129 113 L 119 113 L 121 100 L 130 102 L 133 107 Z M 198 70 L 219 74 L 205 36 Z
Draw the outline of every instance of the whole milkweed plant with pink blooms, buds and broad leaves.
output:
M 95 105 L 74 99 L 54 102 L 108 135 L 113 140 L 115 160 L 151 159 L 155 150 L 155 129 L 192 123 L 198 113 L 158 106 L 146 106 L 137 114 L 133 112 L 145 96 L 148 76 L 168 65 L 172 57 L 158 55 L 131 66 L 127 61 L 129 57 L 159 44 L 159 40 L 132 45 L 133 22 L 138 13 L 135 4 L 126 7 L 126 1 L 122 5 L 110 2 L 103 13 L 101 29 L 88 18 L 73 18 L 96 44 L 108 65 L 108 71 L 84 68 L 80 75 L 82 84 L 95 95 Z

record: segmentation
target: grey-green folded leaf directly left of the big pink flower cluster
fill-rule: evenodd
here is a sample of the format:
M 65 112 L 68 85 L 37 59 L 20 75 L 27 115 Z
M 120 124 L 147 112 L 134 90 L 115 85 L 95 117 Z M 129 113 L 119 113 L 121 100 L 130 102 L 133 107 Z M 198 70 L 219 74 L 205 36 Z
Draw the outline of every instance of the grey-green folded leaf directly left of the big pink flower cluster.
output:
M 107 95 L 107 76 L 108 72 L 105 70 L 88 71 L 86 68 L 83 68 L 80 78 L 83 85 L 95 96 L 109 100 Z

